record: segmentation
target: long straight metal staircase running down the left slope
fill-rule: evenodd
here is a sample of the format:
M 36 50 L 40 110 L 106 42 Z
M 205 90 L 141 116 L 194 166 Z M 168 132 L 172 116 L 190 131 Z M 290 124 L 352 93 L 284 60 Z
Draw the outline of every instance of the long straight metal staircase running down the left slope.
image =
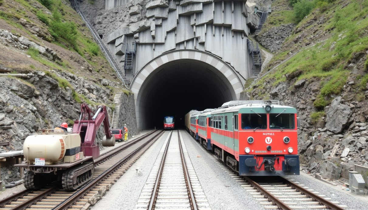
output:
M 89 28 L 89 30 L 92 32 L 93 38 L 96 40 L 96 43 L 100 46 L 102 52 L 104 53 L 107 61 L 109 61 L 111 67 L 116 71 L 118 78 L 123 82 L 123 85 L 130 84 L 130 80 L 125 78 L 125 74 L 117 64 L 114 56 L 110 53 L 109 49 L 107 49 L 106 45 L 102 42 L 100 36 L 98 35 L 95 28 L 91 27 L 88 23 L 88 21 L 85 19 L 82 11 L 79 9 L 79 1 L 78 0 L 70 0 L 72 6 L 74 7 L 75 11 L 81 15 L 83 21 L 85 22 L 86 26 Z

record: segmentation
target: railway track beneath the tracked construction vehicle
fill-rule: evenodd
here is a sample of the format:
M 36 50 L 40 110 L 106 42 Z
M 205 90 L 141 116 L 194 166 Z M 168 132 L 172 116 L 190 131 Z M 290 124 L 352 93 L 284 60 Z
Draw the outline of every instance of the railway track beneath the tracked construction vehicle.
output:
M 68 192 L 60 186 L 49 185 L 38 191 L 25 190 L 0 201 L 0 210 L 15 209 L 82 209 L 97 202 L 137 159 L 162 135 L 153 131 L 102 154 L 94 161 L 91 181 L 77 191 Z

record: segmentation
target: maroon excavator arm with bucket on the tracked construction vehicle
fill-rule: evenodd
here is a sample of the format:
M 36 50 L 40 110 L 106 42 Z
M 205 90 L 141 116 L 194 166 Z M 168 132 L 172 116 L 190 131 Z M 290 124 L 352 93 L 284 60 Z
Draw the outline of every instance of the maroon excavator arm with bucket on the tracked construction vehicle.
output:
M 81 105 L 81 115 L 79 120 L 74 121 L 73 132 L 81 136 L 81 150 L 85 156 L 93 156 L 94 159 L 100 156 L 100 149 L 96 141 L 97 130 L 103 123 L 105 136 L 102 140 L 103 146 L 114 146 L 115 136 L 111 134 L 109 115 L 106 106 L 100 105 L 96 113 L 92 115 L 91 109 L 87 104 Z

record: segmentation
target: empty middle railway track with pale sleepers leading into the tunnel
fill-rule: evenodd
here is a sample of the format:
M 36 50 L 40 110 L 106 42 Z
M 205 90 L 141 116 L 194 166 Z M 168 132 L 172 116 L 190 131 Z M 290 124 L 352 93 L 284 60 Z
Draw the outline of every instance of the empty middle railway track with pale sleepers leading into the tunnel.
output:
M 210 210 L 179 131 L 171 131 L 135 209 Z

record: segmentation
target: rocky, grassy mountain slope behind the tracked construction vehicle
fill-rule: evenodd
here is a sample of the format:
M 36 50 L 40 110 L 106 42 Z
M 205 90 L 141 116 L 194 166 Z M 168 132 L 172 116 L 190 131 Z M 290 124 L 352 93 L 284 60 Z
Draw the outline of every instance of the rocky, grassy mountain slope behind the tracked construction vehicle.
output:
M 138 132 L 134 108 L 125 108 L 134 107 L 134 96 L 69 1 L 0 0 L 0 52 L 0 153 L 21 150 L 40 128 L 72 127 L 81 103 L 105 104 L 110 121 L 120 107 L 115 118 L 124 113 L 130 135 Z M 103 135 L 100 129 L 98 140 Z M 1 180 L 20 179 L 17 171 L 1 167 Z

